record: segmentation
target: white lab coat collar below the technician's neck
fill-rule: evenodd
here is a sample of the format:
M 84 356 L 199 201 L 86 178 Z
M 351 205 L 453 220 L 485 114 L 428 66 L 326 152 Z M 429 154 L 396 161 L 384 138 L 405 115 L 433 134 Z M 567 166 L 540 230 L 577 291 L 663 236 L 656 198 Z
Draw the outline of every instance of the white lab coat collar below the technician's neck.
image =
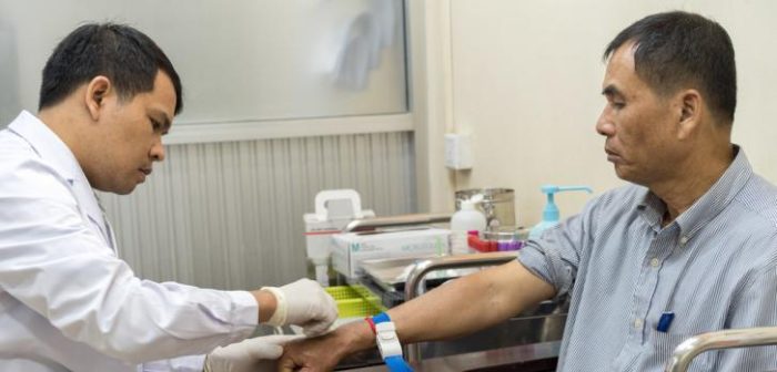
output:
M 24 138 L 41 159 L 54 167 L 65 178 L 78 200 L 81 213 L 97 225 L 108 246 L 115 248 L 94 190 L 68 145 L 40 118 L 28 111 L 22 111 L 11 122 L 8 130 Z

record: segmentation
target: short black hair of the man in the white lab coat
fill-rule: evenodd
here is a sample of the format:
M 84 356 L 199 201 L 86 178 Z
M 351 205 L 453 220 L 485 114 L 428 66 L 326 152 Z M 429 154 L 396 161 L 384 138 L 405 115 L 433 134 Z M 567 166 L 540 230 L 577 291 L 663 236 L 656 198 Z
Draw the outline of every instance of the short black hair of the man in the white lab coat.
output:
M 111 80 L 120 99 L 131 100 L 153 90 L 160 70 L 173 83 L 178 114 L 183 107 L 181 80 L 151 38 L 124 24 L 84 24 L 67 35 L 46 62 L 38 108 L 60 103 L 100 75 Z

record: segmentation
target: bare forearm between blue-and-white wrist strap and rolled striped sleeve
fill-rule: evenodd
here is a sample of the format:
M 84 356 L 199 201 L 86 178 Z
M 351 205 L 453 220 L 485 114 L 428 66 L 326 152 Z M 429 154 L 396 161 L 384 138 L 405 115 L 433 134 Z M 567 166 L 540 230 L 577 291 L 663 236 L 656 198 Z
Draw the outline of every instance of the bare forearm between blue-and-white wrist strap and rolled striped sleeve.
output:
M 389 314 L 403 343 L 450 339 L 496 324 L 553 293 L 514 261 L 445 283 Z

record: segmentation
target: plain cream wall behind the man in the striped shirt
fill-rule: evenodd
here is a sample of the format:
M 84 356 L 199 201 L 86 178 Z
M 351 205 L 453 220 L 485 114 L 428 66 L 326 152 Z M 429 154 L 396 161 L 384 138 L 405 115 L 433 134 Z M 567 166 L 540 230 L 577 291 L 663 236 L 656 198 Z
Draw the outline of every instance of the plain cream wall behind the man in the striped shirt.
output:
M 544 205 L 542 184 L 588 184 L 597 193 L 617 179 L 594 130 L 604 105 L 602 53 L 622 29 L 654 12 L 689 10 L 717 20 L 734 41 L 739 105 L 734 141 L 756 172 L 777 182 L 777 2 L 751 1 L 515 1 L 450 0 L 442 30 L 450 43 L 451 118 L 437 132 L 471 132 L 475 166 L 433 180 L 430 194 L 498 186 L 516 192 L 517 221 L 532 225 Z M 445 23 L 440 21 L 431 21 Z M 442 152 L 442 144 L 430 152 Z M 440 163 L 437 167 L 443 167 Z M 453 173 L 453 172 L 451 172 Z M 453 186 L 451 185 L 453 184 Z M 423 196 L 422 196 L 423 197 Z M 588 196 L 557 198 L 562 215 Z M 431 209 L 451 209 L 433 203 Z

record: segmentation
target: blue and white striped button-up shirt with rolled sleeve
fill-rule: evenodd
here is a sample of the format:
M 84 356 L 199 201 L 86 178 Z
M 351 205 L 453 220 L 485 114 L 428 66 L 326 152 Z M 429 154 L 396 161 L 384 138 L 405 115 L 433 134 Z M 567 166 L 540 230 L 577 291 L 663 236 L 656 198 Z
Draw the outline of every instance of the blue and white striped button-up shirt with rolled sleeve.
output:
M 662 228 L 665 209 L 647 188 L 620 187 L 522 250 L 526 268 L 571 296 L 558 371 L 658 372 L 688 337 L 777 324 L 777 188 L 744 151 Z M 660 332 L 665 311 L 675 319 Z M 773 369 L 775 347 L 710 351 L 690 366 Z

